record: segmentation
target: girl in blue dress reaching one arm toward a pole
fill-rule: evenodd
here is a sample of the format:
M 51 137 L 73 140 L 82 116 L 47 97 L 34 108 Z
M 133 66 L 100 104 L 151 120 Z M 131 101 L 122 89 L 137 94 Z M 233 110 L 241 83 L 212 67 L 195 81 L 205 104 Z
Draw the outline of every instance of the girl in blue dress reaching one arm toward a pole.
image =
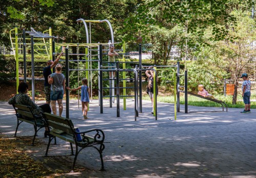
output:
M 71 89 L 70 87 L 66 87 L 67 90 L 70 91 L 77 91 L 81 89 L 81 102 L 82 102 L 82 115 L 84 119 L 88 119 L 87 112 L 88 112 L 88 103 L 90 102 L 90 88 L 87 86 L 88 80 L 87 78 L 82 79 L 82 86 L 78 88 Z

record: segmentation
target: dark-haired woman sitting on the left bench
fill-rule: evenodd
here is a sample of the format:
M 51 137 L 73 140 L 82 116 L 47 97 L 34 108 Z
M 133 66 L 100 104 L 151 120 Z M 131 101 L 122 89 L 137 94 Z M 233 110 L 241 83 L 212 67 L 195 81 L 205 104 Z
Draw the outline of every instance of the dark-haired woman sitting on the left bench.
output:
M 26 106 L 31 106 L 33 109 L 33 114 L 35 116 L 41 117 L 41 112 L 43 113 L 51 113 L 51 107 L 49 104 L 42 104 L 40 106 L 37 106 L 27 95 L 29 91 L 29 86 L 27 83 L 21 82 L 18 86 L 18 94 L 13 96 L 11 99 L 9 99 L 9 104 L 23 104 Z M 45 131 L 45 137 L 49 135 L 48 127 L 46 127 Z

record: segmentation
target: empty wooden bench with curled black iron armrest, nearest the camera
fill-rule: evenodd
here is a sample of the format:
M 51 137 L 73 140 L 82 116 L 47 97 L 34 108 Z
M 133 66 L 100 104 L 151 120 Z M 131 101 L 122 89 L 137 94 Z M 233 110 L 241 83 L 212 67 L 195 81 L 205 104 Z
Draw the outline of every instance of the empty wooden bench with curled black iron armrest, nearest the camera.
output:
M 100 129 L 92 129 L 88 131 L 78 131 L 78 128 L 74 127 L 74 124 L 70 119 L 59 117 L 56 115 L 44 113 L 44 118 L 47 120 L 47 123 L 50 127 L 52 127 L 50 131 L 49 142 L 46 149 L 46 157 L 48 155 L 48 150 L 50 147 L 50 143 L 53 138 L 59 138 L 61 140 L 67 141 L 71 146 L 71 154 L 74 155 L 73 145 L 75 144 L 75 158 L 73 162 L 72 171 L 74 170 L 76 159 L 79 152 L 87 147 L 95 148 L 100 155 L 101 160 L 101 169 L 105 170 L 103 165 L 102 151 L 105 146 L 103 144 L 105 136 L 104 132 Z M 79 148 L 79 150 L 78 150 Z

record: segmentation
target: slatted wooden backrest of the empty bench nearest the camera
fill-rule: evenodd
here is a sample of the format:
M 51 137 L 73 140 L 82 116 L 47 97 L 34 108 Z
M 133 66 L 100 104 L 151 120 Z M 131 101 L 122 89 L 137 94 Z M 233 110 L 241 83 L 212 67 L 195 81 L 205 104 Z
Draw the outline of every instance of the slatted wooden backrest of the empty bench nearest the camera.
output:
M 44 113 L 44 118 L 47 120 L 50 127 L 74 135 L 74 124 L 70 119 L 62 118 L 49 113 Z

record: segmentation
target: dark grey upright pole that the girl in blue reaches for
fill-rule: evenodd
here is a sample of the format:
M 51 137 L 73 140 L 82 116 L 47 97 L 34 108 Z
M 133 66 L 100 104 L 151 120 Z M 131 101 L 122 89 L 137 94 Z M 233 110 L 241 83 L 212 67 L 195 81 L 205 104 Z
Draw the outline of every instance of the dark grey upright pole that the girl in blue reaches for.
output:
M 53 43 L 54 46 L 54 43 Z M 69 49 L 65 49 L 66 57 L 66 86 L 69 86 Z M 69 91 L 66 89 L 66 118 L 69 119 Z

